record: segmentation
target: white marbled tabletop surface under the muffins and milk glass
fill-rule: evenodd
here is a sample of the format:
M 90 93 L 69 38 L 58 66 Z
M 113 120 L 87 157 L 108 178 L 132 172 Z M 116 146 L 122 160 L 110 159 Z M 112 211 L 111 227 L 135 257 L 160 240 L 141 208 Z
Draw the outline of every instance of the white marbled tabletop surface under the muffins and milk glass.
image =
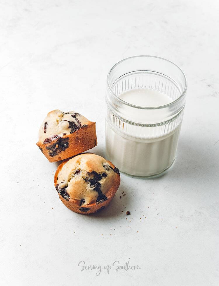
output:
M 216 0 L 0 0 L 0 285 L 218 285 L 218 12 Z M 78 215 L 58 199 L 39 125 L 76 110 L 96 121 L 104 155 L 107 72 L 137 54 L 187 76 L 177 160 L 158 179 L 121 174 L 107 209 Z M 116 260 L 141 269 L 78 266 Z

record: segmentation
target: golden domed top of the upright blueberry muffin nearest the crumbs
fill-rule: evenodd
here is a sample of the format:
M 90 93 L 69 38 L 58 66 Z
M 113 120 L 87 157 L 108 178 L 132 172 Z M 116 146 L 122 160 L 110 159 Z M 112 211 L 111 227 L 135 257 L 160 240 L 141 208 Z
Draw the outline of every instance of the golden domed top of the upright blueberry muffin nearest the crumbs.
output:
M 56 189 L 63 198 L 77 199 L 80 205 L 101 203 L 116 181 L 117 168 L 103 157 L 84 153 L 69 159 L 60 169 Z

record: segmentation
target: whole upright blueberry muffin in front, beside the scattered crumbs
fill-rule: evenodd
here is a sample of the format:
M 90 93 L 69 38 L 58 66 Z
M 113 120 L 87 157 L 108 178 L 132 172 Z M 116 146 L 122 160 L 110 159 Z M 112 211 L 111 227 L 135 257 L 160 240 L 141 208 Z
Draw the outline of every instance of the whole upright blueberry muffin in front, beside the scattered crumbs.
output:
M 67 208 L 89 214 L 110 203 L 119 188 L 120 175 L 103 157 L 84 153 L 64 161 L 56 170 L 54 183 Z

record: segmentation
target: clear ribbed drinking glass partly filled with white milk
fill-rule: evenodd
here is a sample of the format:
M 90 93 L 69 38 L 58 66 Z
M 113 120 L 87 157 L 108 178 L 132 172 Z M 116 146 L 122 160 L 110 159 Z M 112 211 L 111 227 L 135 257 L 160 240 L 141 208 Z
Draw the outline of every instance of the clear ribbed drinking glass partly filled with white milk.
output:
M 187 82 L 171 61 L 133 56 L 107 76 L 106 156 L 131 176 L 158 177 L 176 157 Z

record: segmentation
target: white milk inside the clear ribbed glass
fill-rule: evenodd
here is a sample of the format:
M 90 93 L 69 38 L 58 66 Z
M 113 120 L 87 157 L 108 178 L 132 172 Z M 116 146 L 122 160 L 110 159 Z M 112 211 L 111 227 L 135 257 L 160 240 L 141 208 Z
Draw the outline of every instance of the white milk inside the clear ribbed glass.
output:
M 171 98 L 164 93 L 146 88 L 129 90 L 119 97 L 142 107 L 157 107 L 171 102 Z M 121 172 L 133 176 L 160 174 L 168 169 L 175 159 L 180 126 L 165 136 L 141 138 L 138 134 L 131 136 L 121 129 L 112 129 L 106 121 L 107 158 Z

